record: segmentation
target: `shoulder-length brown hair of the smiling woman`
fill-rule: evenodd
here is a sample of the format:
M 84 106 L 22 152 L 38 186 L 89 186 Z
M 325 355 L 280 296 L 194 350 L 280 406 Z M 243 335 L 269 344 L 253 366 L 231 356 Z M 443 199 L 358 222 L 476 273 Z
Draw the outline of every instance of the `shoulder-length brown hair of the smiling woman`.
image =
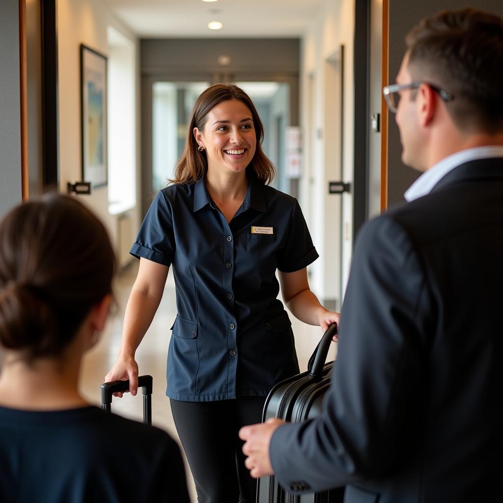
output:
M 195 127 L 203 130 L 209 111 L 219 103 L 228 100 L 239 100 L 244 103 L 253 118 L 257 149 L 246 170 L 253 170 L 257 179 L 263 184 L 270 184 L 274 180 L 276 176 L 274 165 L 262 150 L 264 126 L 250 97 L 234 84 L 215 84 L 203 91 L 194 104 L 184 152 L 176 165 L 175 178 L 169 180 L 169 183 L 191 184 L 204 177 L 208 169 L 206 151 L 198 150 L 193 131 Z

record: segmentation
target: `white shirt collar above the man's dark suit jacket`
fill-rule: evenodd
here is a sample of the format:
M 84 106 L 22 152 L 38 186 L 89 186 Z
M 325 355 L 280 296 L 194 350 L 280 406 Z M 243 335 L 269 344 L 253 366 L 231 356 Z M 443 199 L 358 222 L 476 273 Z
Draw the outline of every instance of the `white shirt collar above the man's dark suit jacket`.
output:
M 486 159 L 489 157 L 503 157 L 503 146 L 483 146 L 461 150 L 434 164 L 429 170 L 425 171 L 405 192 L 404 197 L 407 201 L 413 201 L 429 194 L 442 178 L 456 167 L 465 162 Z

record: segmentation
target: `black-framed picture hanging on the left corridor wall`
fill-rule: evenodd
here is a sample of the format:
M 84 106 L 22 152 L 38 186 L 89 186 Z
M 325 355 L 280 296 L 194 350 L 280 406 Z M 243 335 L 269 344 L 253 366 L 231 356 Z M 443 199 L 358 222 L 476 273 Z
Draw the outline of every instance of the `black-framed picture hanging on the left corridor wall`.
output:
M 82 181 L 107 185 L 107 58 L 80 44 Z

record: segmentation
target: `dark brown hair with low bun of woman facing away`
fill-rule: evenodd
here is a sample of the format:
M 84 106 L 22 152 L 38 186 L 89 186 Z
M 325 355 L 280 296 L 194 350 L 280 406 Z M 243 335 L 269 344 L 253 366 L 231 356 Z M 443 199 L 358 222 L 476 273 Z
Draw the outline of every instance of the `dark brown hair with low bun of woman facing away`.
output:
M 76 199 L 48 195 L 0 222 L 0 346 L 28 361 L 58 356 L 111 292 L 115 255 Z

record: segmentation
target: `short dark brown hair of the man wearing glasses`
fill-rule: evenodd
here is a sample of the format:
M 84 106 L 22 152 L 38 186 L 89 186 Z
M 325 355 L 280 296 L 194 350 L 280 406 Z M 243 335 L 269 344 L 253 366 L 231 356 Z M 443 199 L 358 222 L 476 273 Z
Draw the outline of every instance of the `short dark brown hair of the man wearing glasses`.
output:
M 454 97 L 447 104 L 465 132 L 503 131 L 503 20 L 476 9 L 443 11 L 406 37 L 408 71 Z

